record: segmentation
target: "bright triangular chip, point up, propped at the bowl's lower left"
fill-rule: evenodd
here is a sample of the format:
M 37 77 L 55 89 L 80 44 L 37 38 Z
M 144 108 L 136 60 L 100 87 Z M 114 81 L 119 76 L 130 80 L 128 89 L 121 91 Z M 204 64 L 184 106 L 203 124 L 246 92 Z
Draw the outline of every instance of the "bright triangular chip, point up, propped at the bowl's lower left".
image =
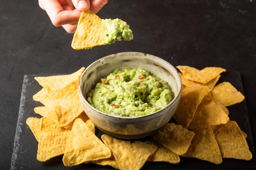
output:
M 65 166 L 111 157 L 110 149 L 88 128 L 82 119 L 76 119 L 63 155 Z

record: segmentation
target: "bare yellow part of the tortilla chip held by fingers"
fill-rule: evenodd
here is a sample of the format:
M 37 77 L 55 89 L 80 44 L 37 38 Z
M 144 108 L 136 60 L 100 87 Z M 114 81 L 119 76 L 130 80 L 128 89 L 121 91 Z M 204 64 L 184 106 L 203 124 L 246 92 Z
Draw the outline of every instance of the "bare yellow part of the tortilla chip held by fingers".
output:
M 108 28 L 99 16 L 90 10 L 82 11 L 71 46 L 80 50 L 106 45 L 107 34 Z

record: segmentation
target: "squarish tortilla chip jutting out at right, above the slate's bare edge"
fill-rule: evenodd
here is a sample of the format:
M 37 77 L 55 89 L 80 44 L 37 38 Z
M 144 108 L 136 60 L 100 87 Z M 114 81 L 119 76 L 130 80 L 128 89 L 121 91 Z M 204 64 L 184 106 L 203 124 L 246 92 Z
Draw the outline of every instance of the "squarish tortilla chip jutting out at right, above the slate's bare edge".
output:
M 229 82 L 222 82 L 215 86 L 211 91 L 214 99 L 222 103 L 224 106 L 231 106 L 242 102 L 245 96 L 236 90 Z

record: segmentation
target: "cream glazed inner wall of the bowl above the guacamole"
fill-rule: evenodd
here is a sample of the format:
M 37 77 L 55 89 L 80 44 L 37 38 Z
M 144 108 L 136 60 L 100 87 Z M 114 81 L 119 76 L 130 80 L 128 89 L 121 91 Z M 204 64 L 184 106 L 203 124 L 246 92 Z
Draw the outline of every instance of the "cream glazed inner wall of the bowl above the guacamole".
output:
M 115 68 L 125 67 L 144 68 L 168 82 L 173 89 L 175 97 L 181 93 L 180 75 L 170 63 L 154 55 L 124 52 L 103 57 L 85 69 L 79 82 L 79 90 L 83 93 L 83 101 L 90 105 L 84 96 L 100 82 L 101 78 L 109 75 Z

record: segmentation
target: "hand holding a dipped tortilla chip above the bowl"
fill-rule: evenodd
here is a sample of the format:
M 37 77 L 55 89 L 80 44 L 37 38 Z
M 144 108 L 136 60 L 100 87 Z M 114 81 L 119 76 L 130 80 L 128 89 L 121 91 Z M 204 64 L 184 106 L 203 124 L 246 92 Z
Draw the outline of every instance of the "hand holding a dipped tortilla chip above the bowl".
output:
M 108 0 L 38 0 L 54 26 L 63 26 L 68 33 L 76 31 L 82 11 L 97 13 Z M 74 7 L 73 7 L 74 6 Z

